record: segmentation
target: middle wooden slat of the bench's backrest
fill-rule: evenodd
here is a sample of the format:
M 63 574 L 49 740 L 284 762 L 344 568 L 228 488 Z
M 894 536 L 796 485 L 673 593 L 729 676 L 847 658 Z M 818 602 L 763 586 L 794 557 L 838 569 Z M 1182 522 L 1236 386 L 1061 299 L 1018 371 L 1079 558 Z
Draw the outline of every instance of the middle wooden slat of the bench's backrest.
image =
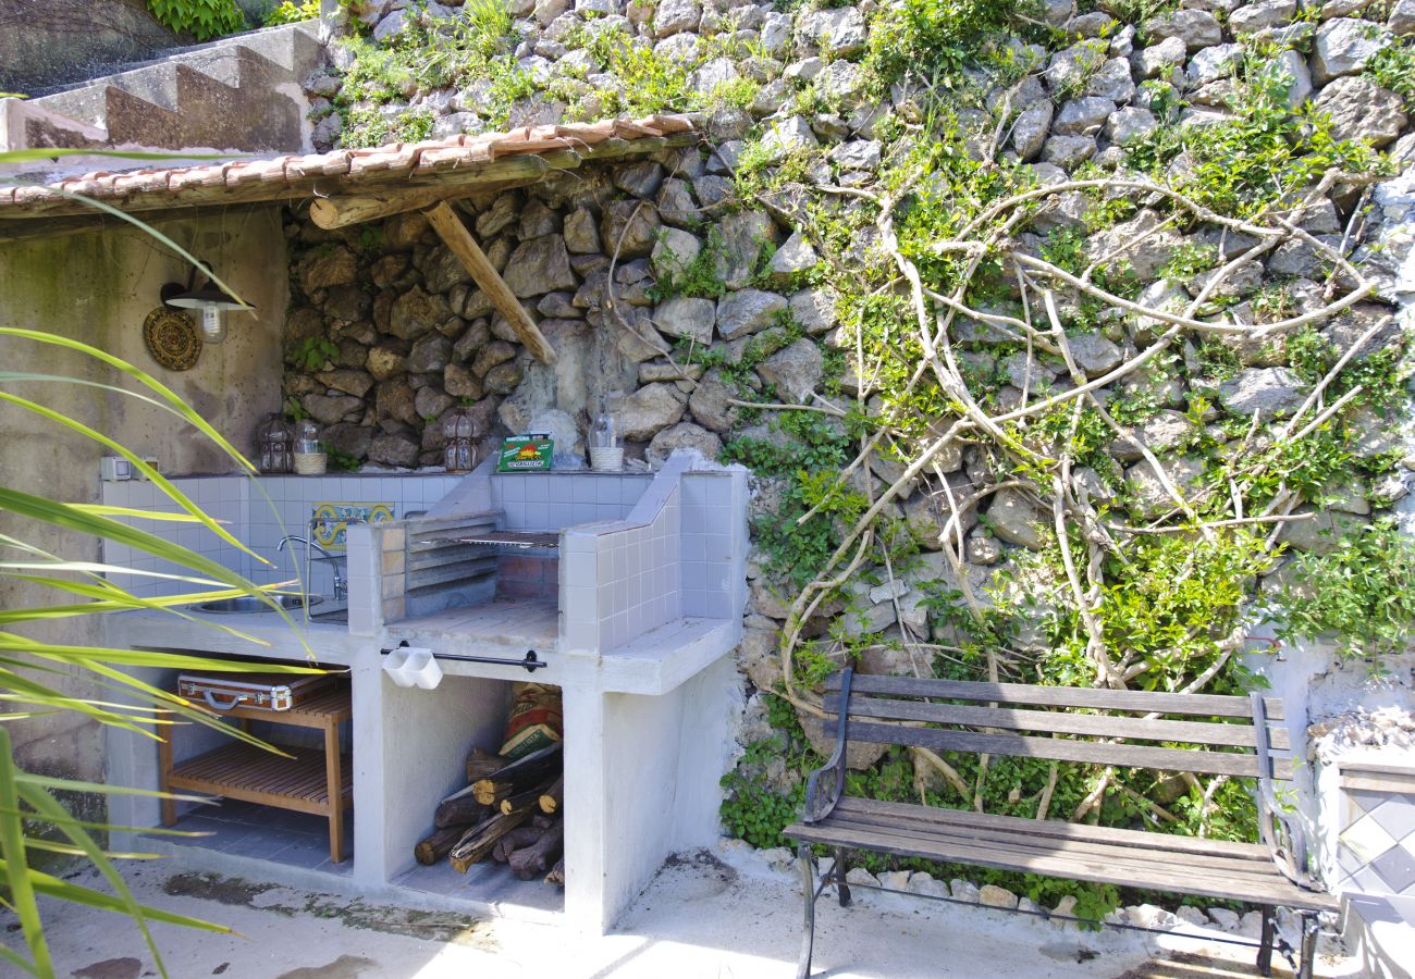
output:
M 839 714 L 841 695 L 828 693 L 822 705 L 828 714 Z M 974 707 L 927 700 L 883 700 L 879 697 L 850 697 L 852 717 L 880 720 L 918 720 L 935 724 L 966 724 L 971 727 L 1005 727 L 1019 731 L 1049 731 L 1053 734 L 1090 734 L 1143 741 L 1182 741 L 1223 747 L 1257 747 L 1251 723 L 1217 724 L 1194 720 L 1162 720 L 1125 714 L 1074 714 L 1053 710 L 1015 710 L 1012 707 Z M 1274 727 L 1269 744 L 1278 750 L 1289 746 L 1288 729 Z

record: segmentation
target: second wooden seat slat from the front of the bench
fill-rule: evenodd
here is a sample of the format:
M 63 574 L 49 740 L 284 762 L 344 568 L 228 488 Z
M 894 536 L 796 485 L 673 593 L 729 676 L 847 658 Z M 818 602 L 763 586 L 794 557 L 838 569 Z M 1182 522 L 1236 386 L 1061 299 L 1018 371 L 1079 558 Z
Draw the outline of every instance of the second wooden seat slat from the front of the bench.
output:
M 1026 825 L 1034 821 L 1013 818 L 1012 826 L 981 828 L 954 825 L 948 822 L 920 822 L 914 819 L 900 819 L 882 813 L 839 811 L 831 813 L 826 821 L 832 826 L 859 826 L 862 829 L 880 830 L 887 833 L 907 833 L 924 839 L 954 839 L 968 846 L 995 846 L 999 849 L 1032 850 L 1037 853 L 1065 853 L 1078 857 L 1094 856 L 1102 860 L 1126 860 L 1139 867 L 1150 867 L 1160 879 L 1170 871 L 1199 873 L 1206 876 L 1220 874 L 1232 879 L 1266 880 L 1272 876 L 1272 857 L 1264 853 L 1262 860 L 1247 857 L 1231 857 L 1220 853 L 1180 853 L 1177 850 L 1152 849 L 1148 846 L 1133 846 L 1129 843 L 1102 843 L 1099 840 L 1071 840 L 1051 836 L 1039 836 L 1030 832 Z M 1020 828 L 1017 823 L 1023 823 Z M 1150 833 L 1163 836 L 1163 833 Z M 1138 863 L 1136 863 L 1138 862 Z

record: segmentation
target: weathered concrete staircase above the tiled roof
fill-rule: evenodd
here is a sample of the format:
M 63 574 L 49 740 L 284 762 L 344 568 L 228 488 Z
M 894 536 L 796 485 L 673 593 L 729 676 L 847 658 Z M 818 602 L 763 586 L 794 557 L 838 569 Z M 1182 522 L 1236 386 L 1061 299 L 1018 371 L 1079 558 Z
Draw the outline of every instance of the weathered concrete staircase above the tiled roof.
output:
M 38 98 L 0 99 L 0 151 L 310 153 L 303 82 L 327 61 L 317 31 L 308 21 L 238 34 Z

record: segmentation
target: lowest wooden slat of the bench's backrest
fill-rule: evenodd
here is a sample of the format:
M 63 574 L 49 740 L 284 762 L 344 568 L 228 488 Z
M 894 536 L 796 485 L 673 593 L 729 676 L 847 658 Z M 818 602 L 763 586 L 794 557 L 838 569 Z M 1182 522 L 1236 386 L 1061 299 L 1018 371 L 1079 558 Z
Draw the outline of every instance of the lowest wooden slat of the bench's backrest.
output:
M 835 737 L 838 727 L 838 717 L 829 716 L 825 722 L 826 737 Z M 1257 778 L 1259 775 L 1257 755 L 1223 751 L 1189 751 L 1184 748 L 1156 748 L 1143 744 L 1070 741 L 1051 737 L 1026 737 L 1022 734 L 983 734 L 979 731 L 941 727 L 901 727 L 899 724 L 872 724 L 867 722 L 852 722 L 849 737 L 852 741 L 904 744 L 932 751 L 1005 754 L 1020 758 L 1080 761 L 1082 764 L 1155 768 L 1160 771 L 1193 771 L 1210 775 L 1234 775 L 1238 778 Z M 1292 763 L 1275 758 L 1272 761 L 1272 777 L 1290 780 Z

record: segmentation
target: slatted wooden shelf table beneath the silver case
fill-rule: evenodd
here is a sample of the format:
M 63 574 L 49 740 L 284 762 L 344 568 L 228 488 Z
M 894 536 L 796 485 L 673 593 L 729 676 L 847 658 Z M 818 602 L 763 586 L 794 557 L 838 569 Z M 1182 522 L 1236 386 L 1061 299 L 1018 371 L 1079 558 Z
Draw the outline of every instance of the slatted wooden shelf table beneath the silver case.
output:
M 238 720 L 242 730 L 250 720 L 323 730 L 324 750 L 280 746 L 282 751 L 293 755 L 286 758 L 253 744 L 233 741 L 173 764 L 173 729 L 157 744 L 161 789 L 207 792 L 325 816 L 330 821 L 330 860 L 342 863 L 344 812 L 354 808 L 352 758 L 340 751 L 340 724 L 354 716 L 350 688 L 335 686 L 290 710 L 232 707 L 209 713 Z M 175 799 L 163 799 L 163 825 L 175 823 Z

